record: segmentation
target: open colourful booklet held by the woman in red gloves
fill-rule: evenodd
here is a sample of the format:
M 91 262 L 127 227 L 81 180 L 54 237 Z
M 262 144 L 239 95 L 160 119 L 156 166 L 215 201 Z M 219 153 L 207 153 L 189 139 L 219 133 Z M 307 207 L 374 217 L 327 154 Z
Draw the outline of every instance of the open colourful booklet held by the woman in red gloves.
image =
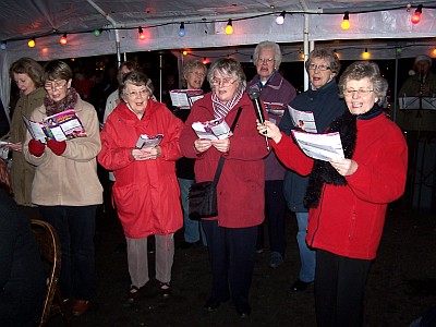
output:
M 85 129 L 73 109 L 49 116 L 41 122 L 36 122 L 23 116 L 24 123 L 32 137 L 43 143 L 48 140 L 66 141 L 85 137 Z

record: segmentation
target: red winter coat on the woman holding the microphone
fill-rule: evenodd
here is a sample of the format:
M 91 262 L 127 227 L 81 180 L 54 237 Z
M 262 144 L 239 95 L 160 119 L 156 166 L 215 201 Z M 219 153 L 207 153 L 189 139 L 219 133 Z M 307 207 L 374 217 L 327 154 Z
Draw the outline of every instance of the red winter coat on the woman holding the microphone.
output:
M 272 147 L 282 162 L 303 175 L 312 170 L 306 157 L 282 134 Z M 308 213 L 306 242 L 337 255 L 374 259 L 388 203 L 404 192 L 408 148 L 400 129 L 385 114 L 358 120 L 353 160 L 358 170 L 346 186 L 325 184 L 316 208 Z

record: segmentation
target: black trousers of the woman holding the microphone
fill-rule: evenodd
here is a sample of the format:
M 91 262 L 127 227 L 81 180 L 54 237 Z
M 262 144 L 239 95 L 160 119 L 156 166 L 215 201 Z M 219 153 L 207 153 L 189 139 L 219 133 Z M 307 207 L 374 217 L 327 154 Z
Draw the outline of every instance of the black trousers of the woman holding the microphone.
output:
M 318 327 L 360 327 L 372 261 L 316 251 L 315 307 Z

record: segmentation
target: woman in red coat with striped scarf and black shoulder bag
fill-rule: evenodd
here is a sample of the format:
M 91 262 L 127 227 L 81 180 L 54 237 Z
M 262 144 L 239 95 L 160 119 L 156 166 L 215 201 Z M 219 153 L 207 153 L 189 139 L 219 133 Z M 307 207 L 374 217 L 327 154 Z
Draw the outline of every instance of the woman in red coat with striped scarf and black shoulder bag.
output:
M 180 147 L 196 159 L 196 182 L 214 180 L 218 160 L 225 165 L 218 182 L 218 216 L 202 220 L 209 247 L 213 287 L 204 307 L 215 311 L 230 295 L 240 316 L 251 313 L 249 291 L 253 276 L 257 226 L 264 220 L 265 137 L 257 134 L 255 109 L 245 93 L 245 74 L 233 59 L 216 61 L 207 73 L 211 93 L 194 102 Z M 193 122 L 223 118 L 232 125 L 241 108 L 233 135 L 226 140 L 198 138 Z

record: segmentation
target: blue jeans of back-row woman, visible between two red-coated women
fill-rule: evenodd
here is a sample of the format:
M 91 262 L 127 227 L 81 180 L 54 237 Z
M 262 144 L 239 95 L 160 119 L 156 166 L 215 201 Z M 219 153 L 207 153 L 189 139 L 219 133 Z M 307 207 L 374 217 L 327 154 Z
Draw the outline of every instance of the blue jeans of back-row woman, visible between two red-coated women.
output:
M 194 180 L 186 180 L 178 178 L 180 186 L 180 199 L 183 208 L 183 229 L 184 240 L 187 243 L 195 243 L 202 239 L 203 245 L 207 245 L 206 235 L 198 220 L 192 220 L 190 218 L 190 209 L 187 206 L 187 196 L 190 194 L 190 187 L 194 183 Z

